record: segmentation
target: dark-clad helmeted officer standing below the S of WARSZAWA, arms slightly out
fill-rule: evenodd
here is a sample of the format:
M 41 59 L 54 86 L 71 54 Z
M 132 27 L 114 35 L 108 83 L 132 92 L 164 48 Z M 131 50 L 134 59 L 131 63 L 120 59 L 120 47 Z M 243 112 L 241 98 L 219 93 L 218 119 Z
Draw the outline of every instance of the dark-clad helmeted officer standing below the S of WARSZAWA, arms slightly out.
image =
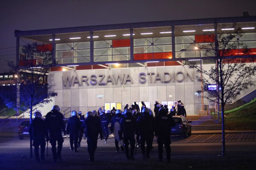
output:
M 94 153 L 97 148 L 99 134 L 100 139 L 103 139 L 100 121 L 94 117 L 93 112 L 87 112 L 82 127 L 84 128 L 85 136 L 87 138 L 87 150 L 90 155 L 89 160 L 94 162 Z

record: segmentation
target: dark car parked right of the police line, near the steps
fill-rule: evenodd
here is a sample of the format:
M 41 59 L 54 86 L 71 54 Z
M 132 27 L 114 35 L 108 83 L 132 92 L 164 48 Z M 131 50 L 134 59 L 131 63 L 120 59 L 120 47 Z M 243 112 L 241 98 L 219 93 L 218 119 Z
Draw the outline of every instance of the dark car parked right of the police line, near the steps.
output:
M 171 129 L 171 135 L 183 135 L 185 138 L 191 135 L 191 121 L 188 121 L 185 116 L 172 116 L 175 126 Z

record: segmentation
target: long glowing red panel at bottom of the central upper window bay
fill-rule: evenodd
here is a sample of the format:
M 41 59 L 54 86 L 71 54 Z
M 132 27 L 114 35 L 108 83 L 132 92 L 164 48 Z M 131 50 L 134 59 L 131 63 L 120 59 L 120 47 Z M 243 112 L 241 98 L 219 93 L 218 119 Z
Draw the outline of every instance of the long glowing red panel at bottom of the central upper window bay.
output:
M 172 52 L 134 54 L 134 60 L 172 58 Z

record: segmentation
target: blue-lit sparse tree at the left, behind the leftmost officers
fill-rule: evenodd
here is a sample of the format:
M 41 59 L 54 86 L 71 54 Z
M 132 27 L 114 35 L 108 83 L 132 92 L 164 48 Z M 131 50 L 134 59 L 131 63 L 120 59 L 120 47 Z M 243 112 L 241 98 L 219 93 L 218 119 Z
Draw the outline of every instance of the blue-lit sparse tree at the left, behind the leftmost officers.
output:
M 36 110 L 36 105 L 49 103 L 57 93 L 48 92 L 47 76 L 52 66 L 52 51 L 48 46 L 38 45 L 37 43 L 25 45 L 20 54 L 20 63 L 9 63 L 14 69 L 17 77 L 17 102 L 12 95 L 6 92 L 2 94 L 5 104 L 10 108 L 29 112 L 30 123 L 32 114 Z M 30 156 L 32 157 L 32 141 L 30 140 Z

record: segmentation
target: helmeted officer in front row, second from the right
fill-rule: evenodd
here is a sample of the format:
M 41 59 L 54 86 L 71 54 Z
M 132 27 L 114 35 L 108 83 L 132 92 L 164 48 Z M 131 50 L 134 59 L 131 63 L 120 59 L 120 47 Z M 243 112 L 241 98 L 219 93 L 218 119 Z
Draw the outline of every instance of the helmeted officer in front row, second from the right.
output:
M 143 159 L 150 158 L 150 150 L 152 148 L 154 139 L 154 118 L 152 115 L 150 115 L 150 110 L 147 107 L 143 108 L 142 115 L 138 117 L 137 123 Z M 145 142 L 147 144 L 146 149 Z

